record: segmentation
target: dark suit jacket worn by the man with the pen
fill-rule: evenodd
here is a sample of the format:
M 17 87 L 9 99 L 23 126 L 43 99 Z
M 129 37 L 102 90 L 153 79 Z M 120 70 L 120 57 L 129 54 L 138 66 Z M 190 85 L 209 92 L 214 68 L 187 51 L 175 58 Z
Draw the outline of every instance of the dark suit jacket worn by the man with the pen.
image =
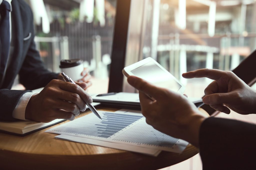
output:
M 12 19 L 14 53 L 0 87 L 0 120 L 16 120 L 12 112 L 20 97 L 29 90 L 46 86 L 58 75 L 45 69 L 40 59 L 34 42 L 33 14 L 23 0 L 12 1 Z M 24 40 L 30 33 L 32 36 Z M 10 90 L 17 74 L 20 83 L 28 90 Z

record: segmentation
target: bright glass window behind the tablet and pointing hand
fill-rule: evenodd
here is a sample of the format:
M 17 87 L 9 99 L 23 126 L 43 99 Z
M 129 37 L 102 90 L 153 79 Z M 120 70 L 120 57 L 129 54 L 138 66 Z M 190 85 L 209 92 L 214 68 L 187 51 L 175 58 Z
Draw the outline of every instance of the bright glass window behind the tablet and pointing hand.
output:
M 132 0 L 126 65 L 152 57 L 186 85 L 188 96 L 202 97 L 211 80 L 181 74 L 236 68 L 255 50 L 255 9 L 250 0 Z M 124 91 L 133 90 L 126 84 Z

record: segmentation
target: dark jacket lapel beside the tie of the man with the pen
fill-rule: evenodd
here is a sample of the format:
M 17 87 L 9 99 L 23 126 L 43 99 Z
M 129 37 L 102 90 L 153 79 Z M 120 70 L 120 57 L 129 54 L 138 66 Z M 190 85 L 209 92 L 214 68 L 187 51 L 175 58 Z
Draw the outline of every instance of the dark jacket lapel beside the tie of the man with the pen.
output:
M 6 70 L 4 79 L 4 87 L 8 86 L 8 83 L 12 83 L 12 79 L 15 78 L 18 70 L 20 69 L 20 62 L 22 60 L 23 49 L 23 23 L 20 12 L 20 6 L 17 0 L 12 1 L 12 41 L 14 42 L 13 56 L 10 57 L 10 66 Z

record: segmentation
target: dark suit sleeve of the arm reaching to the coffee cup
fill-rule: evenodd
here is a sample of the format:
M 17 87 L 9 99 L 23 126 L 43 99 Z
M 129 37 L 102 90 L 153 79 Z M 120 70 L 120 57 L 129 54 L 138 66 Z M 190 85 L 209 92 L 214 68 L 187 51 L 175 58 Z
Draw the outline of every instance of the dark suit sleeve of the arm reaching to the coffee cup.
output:
M 32 12 L 30 12 L 33 18 Z M 20 83 L 26 89 L 33 90 L 46 86 L 51 80 L 57 79 L 58 74 L 48 71 L 40 58 L 39 52 L 36 50 L 34 42 L 34 28 L 31 23 L 32 40 L 28 48 L 24 63 L 19 71 Z

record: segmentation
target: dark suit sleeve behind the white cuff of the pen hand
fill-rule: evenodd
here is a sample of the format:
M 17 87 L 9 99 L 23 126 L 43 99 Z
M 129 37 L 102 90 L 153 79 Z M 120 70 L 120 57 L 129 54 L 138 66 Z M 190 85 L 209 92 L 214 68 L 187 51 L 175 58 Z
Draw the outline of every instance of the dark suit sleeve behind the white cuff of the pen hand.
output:
M 4 121 L 15 121 L 12 117 L 14 108 L 16 107 L 20 97 L 26 93 L 31 92 L 30 90 L 9 90 L 0 89 L 0 120 Z

